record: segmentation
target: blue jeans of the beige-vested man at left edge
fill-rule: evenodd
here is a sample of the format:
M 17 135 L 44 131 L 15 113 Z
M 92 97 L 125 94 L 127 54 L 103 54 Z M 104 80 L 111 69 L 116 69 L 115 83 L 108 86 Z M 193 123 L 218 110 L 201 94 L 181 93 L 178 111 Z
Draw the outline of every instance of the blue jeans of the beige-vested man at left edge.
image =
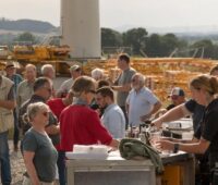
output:
M 0 163 L 1 163 L 1 183 L 11 184 L 11 166 L 9 157 L 8 132 L 0 133 Z

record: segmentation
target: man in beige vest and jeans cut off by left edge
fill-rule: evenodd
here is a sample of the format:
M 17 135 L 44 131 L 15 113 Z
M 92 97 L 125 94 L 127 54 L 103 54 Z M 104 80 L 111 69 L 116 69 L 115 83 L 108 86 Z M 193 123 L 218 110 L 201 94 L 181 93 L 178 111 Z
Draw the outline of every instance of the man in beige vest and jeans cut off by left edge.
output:
M 0 75 L 0 172 L 3 185 L 11 184 L 8 134 L 13 126 L 13 109 L 15 106 L 14 84 L 11 79 Z

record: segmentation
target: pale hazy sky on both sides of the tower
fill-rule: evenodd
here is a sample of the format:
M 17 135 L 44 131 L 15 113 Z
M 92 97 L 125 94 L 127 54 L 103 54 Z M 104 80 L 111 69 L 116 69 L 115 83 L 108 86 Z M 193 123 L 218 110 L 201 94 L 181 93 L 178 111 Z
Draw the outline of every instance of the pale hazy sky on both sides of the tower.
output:
M 101 27 L 218 25 L 218 0 L 99 1 Z M 0 16 L 48 21 L 59 26 L 60 0 L 0 0 Z

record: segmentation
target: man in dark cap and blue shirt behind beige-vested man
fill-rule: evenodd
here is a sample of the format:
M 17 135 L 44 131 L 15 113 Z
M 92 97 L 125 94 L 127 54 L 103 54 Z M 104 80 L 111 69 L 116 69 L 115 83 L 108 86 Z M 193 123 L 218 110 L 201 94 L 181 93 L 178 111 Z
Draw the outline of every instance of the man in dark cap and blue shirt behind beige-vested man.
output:
M 14 92 L 15 92 L 15 97 L 16 97 L 17 86 L 23 81 L 23 78 L 20 74 L 16 74 L 16 67 L 14 66 L 13 62 L 7 62 L 5 72 L 7 72 L 7 77 L 14 83 Z M 17 151 L 17 149 L 19 149 L 19 147 L 17 147 L 17 145 L 19 145 L 19 120 L 17 120 L 16 109 L 14 109 L 13 115 L 14 115 L 13 145 L 14 145 L 14 151 Z

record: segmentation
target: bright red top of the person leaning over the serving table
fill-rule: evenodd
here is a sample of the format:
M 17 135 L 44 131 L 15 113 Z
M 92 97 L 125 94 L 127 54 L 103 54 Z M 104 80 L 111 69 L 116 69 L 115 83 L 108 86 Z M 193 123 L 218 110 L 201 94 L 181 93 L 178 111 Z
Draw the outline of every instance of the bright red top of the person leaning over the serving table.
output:
M 60 115 L 61 149 L 72 151 L 73 145 L 109 145 L 111 135 L 98 114 L 86 106 L 69 106 Z

